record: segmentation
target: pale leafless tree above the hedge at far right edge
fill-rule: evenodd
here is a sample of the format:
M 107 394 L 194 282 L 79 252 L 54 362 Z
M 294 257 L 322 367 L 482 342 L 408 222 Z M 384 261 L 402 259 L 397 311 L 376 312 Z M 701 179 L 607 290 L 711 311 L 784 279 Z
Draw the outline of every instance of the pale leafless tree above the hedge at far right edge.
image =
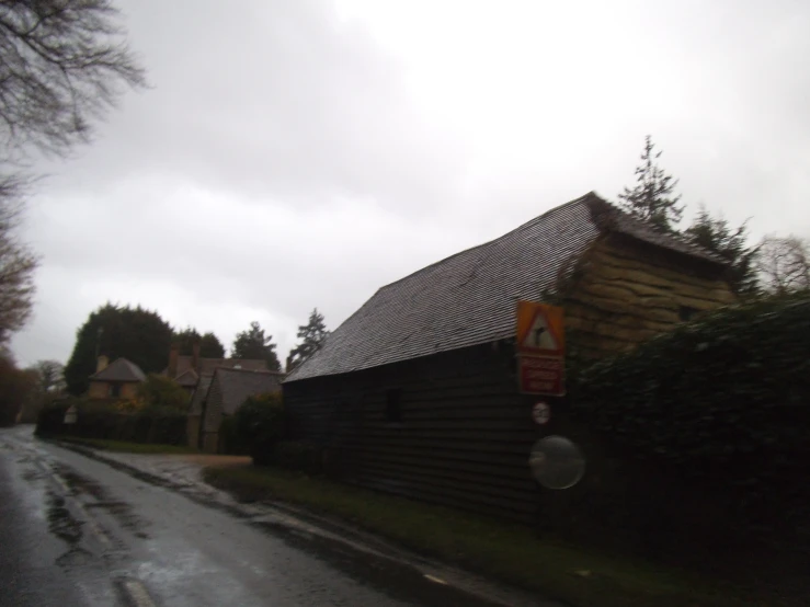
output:
M 810 289 L 810 242 L 796 236 L 766 236 L 757 270 L 765 288 L 776 295 Z

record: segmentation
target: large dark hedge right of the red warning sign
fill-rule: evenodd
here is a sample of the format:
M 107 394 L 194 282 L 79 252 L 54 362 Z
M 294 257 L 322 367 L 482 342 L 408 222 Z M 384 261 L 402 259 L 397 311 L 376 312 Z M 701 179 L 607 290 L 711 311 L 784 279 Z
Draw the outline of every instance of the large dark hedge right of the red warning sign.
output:
M 810 520 L 810 299 L 714 312 L 572 382 L 614 454 L 734 496 L 749 519 Z

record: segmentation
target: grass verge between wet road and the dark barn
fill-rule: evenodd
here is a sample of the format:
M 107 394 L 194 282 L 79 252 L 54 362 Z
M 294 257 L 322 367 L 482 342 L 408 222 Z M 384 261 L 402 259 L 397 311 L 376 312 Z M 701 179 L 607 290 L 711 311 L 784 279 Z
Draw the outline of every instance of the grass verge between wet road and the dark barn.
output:
M 272 468 L 209 467 L 206 482 L 238 499 L 281 500 L 336 516 L 415 552 L 578 607 L 762 605 L 686 573 L 534 537 L 526 527 Z

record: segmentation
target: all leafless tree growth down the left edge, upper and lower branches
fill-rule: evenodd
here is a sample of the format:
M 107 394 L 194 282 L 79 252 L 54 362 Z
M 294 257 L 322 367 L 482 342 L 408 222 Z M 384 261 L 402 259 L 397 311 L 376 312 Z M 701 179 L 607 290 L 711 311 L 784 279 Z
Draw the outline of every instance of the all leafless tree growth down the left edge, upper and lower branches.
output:
M 109 0 L 0 0 L 0 345 L 31 314 L 36 256 L 18 238 L 32 152 L 67 154 L 145 85 Z

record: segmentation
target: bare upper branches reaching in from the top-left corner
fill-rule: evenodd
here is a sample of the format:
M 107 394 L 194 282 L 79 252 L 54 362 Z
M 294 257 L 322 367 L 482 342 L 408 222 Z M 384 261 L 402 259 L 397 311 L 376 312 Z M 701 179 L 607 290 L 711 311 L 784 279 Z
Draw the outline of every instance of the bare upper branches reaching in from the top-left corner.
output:
M 7 153 L 65 153 L 126 87 L 145 84 L 109 0 L 0 0 L 0 133 Z

